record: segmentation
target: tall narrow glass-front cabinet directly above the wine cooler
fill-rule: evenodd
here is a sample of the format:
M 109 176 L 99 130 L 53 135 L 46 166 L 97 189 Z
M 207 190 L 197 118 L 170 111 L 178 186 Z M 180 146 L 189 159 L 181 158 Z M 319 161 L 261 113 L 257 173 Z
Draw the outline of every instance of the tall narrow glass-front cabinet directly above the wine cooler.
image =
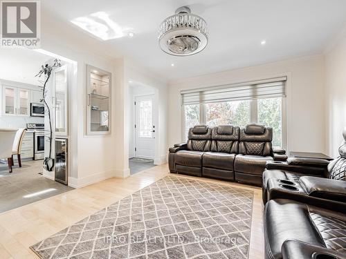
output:
M 67 135 L 67 68 L 55 70 L 55 133 Z

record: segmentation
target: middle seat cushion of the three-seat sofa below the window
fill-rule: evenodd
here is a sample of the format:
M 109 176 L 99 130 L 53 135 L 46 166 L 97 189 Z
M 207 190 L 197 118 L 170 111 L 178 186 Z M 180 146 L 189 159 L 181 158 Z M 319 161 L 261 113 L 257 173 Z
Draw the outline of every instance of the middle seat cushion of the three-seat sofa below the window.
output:
M 206 152 L 203 154 L 203 167 L 233 171 L 236 154 Z

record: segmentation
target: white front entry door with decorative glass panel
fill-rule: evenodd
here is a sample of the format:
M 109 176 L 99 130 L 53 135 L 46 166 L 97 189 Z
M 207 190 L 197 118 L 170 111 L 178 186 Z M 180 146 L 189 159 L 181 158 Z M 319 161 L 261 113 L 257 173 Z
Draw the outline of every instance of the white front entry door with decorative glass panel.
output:
M 155 126 L 153 124 L 154 95 L 135 98 L 135 156 L 154 159 Z

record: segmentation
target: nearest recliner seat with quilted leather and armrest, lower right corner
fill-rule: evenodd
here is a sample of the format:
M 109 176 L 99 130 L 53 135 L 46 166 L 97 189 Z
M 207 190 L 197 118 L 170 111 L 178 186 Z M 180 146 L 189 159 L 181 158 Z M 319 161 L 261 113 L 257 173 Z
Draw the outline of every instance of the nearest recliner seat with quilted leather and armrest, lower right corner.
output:
M 345 207 L 270 200 L 264 208 L 266 259 L 346 258 Z

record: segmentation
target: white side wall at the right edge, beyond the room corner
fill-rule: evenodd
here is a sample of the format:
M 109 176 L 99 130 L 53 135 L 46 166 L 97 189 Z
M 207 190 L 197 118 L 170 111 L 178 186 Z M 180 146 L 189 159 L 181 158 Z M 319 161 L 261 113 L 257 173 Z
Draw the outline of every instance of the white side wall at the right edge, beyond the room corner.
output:
M 338 156 L 346 127 L 346 30 L 325 56 L 325 98 L 327 100 L 327 153 Z

